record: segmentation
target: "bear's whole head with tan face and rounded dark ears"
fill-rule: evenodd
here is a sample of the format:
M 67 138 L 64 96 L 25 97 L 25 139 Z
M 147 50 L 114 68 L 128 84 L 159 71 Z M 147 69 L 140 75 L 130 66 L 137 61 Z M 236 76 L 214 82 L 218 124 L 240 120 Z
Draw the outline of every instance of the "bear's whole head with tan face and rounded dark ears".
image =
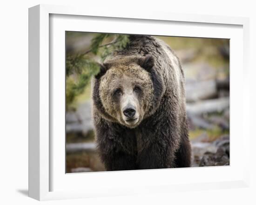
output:
M 94 79 L 94 105 L 106 119 L 137 127 L 160 103 L 162 81 L 152 55 L 115 58 Z M 157 102 L 158 101 L 158 102 Z

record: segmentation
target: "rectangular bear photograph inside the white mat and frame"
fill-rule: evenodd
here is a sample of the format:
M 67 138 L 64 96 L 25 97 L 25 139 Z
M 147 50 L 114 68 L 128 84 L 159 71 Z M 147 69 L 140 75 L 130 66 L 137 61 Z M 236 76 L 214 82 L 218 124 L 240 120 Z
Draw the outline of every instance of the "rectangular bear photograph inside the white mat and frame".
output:
M 66 173 L 229 166 L 229 39 L 65 32 Z

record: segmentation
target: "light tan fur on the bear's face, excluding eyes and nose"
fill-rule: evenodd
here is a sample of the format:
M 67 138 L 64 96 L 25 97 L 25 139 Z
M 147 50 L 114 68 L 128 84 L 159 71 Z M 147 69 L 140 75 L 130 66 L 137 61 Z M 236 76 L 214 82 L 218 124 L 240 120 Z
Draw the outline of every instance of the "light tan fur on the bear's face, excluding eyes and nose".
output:
M 139 94 L 135 86 L 141 88 Z M 116 97 L 114 92 L 121 89 L 121 95 Z M 151 106 L 153 83 L 149 73 L 135 63 L 113 64 L 106 74 L 101 77 L 100 98 L 106 112 L 122 125 L 135 128 L 143 120 L 144 114 Z M 128 105 L 135 107 L 134 122 L 126 122 L 123 109 Z

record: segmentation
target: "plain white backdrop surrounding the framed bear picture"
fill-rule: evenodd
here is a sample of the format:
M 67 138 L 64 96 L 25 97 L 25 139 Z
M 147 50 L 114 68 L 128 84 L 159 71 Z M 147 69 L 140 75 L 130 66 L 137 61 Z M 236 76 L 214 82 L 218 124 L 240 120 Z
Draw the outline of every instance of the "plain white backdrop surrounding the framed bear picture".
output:
M 101 6 L 106 9 L 134 9 L 148 12 L 165 11 L 174 13 L 196 13 L 225 16 L 250 17 L 250 82 L 251 94 L 256 93 L 255 64 L 256 51 L 256 14 L 252 0 L 243 1 L 205 1 L 183 0 L 9 0 L 0 6 L 0 204 L 256 204 L 256 143 L 253 118 L 256 115 L 255 94 L 251 96 L 251 186 L 243 189 L 176 192 L 132 197 L 115 197 L 99 199 L 75 199 L 63 201 L 38 202 L 27 197 L 28 188 L 28 7 L 36 4 L 59 4 L 84 6 Z M 157 3 L 156 3 L 157 2 Z M 239 3 L 237 3 L 239 2 Z M 249 80 L 249 79 L 248 79 Z

